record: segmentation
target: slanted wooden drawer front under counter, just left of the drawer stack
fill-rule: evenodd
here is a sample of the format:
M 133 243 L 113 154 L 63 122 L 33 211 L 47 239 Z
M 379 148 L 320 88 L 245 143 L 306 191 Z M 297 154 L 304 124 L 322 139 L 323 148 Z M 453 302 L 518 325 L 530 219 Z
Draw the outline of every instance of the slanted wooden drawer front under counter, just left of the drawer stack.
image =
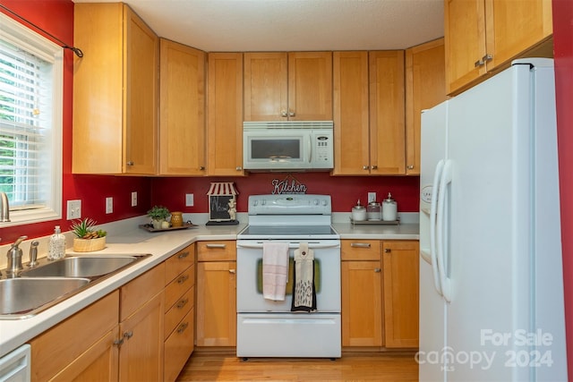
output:
M 159 264 L 120 289 L 120 321 L 165 288 L 165 263 Z

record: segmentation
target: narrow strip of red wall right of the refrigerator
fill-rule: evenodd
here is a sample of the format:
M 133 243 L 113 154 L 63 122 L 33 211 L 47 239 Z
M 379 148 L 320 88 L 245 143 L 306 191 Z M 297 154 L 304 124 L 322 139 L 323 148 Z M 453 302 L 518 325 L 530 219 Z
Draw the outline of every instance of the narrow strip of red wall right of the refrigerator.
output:
M 573 380 L 573 2 L 553 0 L 552 4 L 565 318 L 569 380 Z

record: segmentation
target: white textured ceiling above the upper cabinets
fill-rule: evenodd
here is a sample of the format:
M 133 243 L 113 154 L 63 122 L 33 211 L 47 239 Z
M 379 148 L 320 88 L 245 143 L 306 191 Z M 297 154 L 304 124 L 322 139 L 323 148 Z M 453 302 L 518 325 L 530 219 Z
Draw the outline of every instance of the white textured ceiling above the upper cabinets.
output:
M 159 37 L 208 52 L 402 49 L 443 36 L 443 0 L 124 0 L 124 3 Z

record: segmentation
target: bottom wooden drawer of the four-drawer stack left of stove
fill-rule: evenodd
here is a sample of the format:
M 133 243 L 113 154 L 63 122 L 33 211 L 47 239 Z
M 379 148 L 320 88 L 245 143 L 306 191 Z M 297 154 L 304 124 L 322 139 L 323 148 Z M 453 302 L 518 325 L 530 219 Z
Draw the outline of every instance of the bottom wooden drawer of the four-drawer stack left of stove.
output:
M 192 309 L 165 342 L 165 381 L 175 381 L 193 352 L 194 313 Z

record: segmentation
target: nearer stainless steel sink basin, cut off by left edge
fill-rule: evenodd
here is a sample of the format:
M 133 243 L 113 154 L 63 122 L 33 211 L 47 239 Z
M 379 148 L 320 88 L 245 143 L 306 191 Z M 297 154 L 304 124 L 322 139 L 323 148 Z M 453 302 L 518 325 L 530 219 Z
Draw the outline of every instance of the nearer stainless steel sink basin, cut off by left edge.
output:
M 0 280 L 0 315 L 26 317 L 32 310 L 49 302 L 60 301 L 66 294 L 90 283 L 87 278 L 35 277 Z

